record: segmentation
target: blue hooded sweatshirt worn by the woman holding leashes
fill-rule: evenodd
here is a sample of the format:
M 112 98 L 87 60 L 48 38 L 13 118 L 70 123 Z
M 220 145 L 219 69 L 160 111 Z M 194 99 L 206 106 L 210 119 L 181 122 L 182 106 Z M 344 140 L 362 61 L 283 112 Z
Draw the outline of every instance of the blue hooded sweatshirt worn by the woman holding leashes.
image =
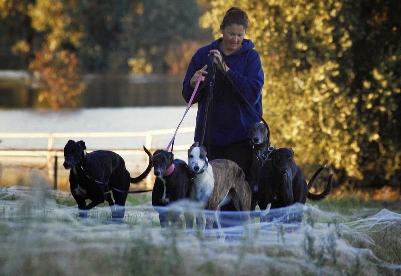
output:
M 261 121 L 262 116 L 262 87 L 264 74 L 259 53 L 254 50 L 251 40 L 244 39 L 242 47 L 236 52 L 225 55 L 219 47 L 222 38 L 212 44 L 200 48 L 193 55 L 183 82 L 182 96 L 188 103 L 193 92 L 190 79 L 195 72 L 208 65 L 208 78 L 200 83 L 199 90 L 193 103 L 198 103 L 196 117 L 195 142 L 201 142 L 205 127 L 204 144 L 211 146 L 228 146 L 248 139 L 248 129 L 251 124 Z M 256 110 L 256 113 L 244 102 L 242 97 L 233 88 L 227 77 L 217 68 L 214 82 L 212 80 L 213 70 L 209 51 L 218 49 L 224 61 L 230 68 L 227 71 L 228 77 L 234 86 L 247 99 Z M 211 81 L 211 82 L 210 82 Z M 210 116 L 207 118 L 207 97 L 210 94 L 210 83 L 213 83 L 212 98 L 209 104 Z

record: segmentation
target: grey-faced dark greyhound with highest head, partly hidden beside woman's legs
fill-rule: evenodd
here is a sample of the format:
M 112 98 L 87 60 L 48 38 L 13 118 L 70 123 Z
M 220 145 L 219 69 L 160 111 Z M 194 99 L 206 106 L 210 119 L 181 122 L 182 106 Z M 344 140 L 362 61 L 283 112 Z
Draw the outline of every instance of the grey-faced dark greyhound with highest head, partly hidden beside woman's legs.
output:
M 252 163 L 249 168 L 247 182 L 251 186 L 251 210 L 255 210 L 258 201 L 258 184 L 260 172 L 272 148 L 269 145 L 269 130 L 263 123 L 253 123 L 249 127 L 249 142 L 252 145 Z

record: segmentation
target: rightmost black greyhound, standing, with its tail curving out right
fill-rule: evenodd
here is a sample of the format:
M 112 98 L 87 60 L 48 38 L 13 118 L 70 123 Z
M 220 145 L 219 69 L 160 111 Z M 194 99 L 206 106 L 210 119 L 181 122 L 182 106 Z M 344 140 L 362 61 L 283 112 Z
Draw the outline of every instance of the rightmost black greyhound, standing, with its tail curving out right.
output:
M 312 187 L 318 174 L 326 166 L 320 167 L 313 175 L 309 184 L 301 169 L 294 162 L 294 151 L 291 148 L 273 150 L 266 160 L 258 186 L 258 204 L 261 209 L 271 203 L 271 208 L 290 206 L 296 202 L 305 204 L 306 198 L 317 201 L 324 199 L 331 191 L 332 178 L 328 178 L 327 187 L 321 194 L 312 194 Z M 295 221 L 301 221 L 301 215 L 295 215 Z

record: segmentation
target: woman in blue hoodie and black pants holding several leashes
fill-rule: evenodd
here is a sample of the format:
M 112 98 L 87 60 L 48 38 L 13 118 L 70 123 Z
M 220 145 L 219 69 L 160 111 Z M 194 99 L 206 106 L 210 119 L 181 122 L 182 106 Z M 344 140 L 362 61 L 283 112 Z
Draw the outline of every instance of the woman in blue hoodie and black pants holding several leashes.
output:
M 247 14 L 237 7 L 226 12 L 220 25 L 222 37 L 195 53 L 182 90 L 189 102 L 201 76 L 203 85 L 193 101 L 198 103 L 195 141 L 207 147 L 209 160 L 224 158 L 236 162 L 246 179 L 252 161 L 248 128 L 261 121 L 264 83 L 259 54 L 252 41 L 244 39 L 248 23 Z

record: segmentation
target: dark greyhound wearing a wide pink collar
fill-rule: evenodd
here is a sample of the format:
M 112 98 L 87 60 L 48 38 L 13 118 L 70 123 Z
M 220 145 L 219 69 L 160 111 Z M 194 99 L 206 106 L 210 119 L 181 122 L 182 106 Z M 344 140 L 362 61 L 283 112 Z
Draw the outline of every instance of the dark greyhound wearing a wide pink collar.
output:
M 150 154 L 146 148 L 145 151 Z M 156 150 L 151 158 L 156 176 L 152 191 L 152 205 L 159 213 L 160 226 L 168 227 L 170 222 L 172 226 L 180 226 L 179 212 L 167 211 L 158 207 L 189 198 L 191 180 L 188 165 L 181 159 L 174 159 L 172 152 L 162 149 Z M 186 227 L 192 228 L 193 215 L 189 213 L 184 213 L 184 215 Z

